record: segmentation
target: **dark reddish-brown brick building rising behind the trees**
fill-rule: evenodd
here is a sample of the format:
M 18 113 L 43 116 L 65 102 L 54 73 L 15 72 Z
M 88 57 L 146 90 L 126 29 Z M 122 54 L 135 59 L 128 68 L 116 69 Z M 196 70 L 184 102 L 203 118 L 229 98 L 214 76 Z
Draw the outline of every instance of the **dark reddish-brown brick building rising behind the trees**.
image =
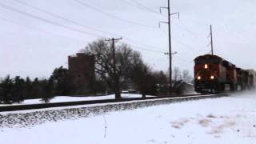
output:
M 75 94 L 90 94 L 94 91 L 94 55 L 78 53 L 68 57 L 69 74 L 75 86 Z

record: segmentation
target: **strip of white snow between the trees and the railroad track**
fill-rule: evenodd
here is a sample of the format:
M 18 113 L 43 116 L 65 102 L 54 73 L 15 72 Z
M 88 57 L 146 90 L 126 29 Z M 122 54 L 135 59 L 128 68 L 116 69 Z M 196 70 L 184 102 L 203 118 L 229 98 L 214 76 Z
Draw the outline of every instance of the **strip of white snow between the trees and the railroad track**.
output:
M 152 97 L 152 96 L 147 96 Z M 142 98 L 141 94 L 122 94 L 122 98 Z M 50 103 L 54 102 L 77 102 L 77 101 L 90 101 L 90 100 L 102 100 L 102 99 L 114 99 L 114 94 L 106 96 L 94 96 L 94 97 L 69 97 L 69 96 L 57 96 L 50 100 Z M 42 99 L 27 99 L 22 103 L 13 103 L 10 105 L 30 105 L 44 103 Z M 0 106 L 10 106 L 9 104 L 1 104 Z

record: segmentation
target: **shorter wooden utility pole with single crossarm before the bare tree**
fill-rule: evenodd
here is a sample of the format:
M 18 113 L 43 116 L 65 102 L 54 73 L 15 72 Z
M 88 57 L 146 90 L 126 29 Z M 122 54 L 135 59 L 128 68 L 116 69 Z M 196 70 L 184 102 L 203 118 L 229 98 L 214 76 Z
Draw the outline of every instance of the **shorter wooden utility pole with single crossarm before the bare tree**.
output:
M 117 75 L 117 68 L 116 68 L 116 60 L 115 60 L 115 48 L 114 48 L 114 42 L 121 40 L 122 38 L 109 38 L 106 39 L 105 41 L 112 42 L 112 54 L 113 54 L 113 70 L 114 70 L 114 93 L 115 93 L 115 98 L 121 98 L 120 95 L 120 86 L 119 86 L 119 78 Z

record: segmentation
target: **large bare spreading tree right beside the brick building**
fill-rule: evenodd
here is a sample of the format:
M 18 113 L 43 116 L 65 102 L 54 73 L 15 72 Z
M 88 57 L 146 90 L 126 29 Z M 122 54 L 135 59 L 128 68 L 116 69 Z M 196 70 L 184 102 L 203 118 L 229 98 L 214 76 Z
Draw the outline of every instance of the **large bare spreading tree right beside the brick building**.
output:
M 95 71 L 99 76 L 104 75 L 107 85 L 114 91 L 115 98 L 121 98 L 120 87 L 129 78 L 129 72 L 135 63 L 141 62 L 141 55 L 130 49 L 130 46 L 122 43 L 116 46 L 115 61 L 116 74 L 114 74 L 113 53 L 110 43 L 99 39 L 86 46 L 86 54 L 94 54 Z M 106 77 L 105 77 L 106 75 Z

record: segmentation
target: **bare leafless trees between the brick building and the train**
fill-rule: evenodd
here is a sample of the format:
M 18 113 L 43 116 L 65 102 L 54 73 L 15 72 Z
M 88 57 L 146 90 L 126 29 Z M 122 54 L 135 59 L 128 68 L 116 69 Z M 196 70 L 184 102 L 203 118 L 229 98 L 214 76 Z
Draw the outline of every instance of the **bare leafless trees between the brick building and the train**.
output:
M 137 90 L 142 97 L 168 93 L 168 76 L 162 71 L 152 70 L 143 62 L 141 54 L 132 50 L 126 43 L 115 45 L 115 57 L 112 43 L 104 39 L 90 42 L 82 52 L 95 56 L 97 79 L 106 83 L 108 91 L 112 91 L 115 98 L 121 98 L 121 90 L 129 88 Z M 191 77 L 187 70 L 183 70 L 182 74 L 179 71 L 174 73 L 177 75 L 174 82 L 182 78 L 190 81 Z

